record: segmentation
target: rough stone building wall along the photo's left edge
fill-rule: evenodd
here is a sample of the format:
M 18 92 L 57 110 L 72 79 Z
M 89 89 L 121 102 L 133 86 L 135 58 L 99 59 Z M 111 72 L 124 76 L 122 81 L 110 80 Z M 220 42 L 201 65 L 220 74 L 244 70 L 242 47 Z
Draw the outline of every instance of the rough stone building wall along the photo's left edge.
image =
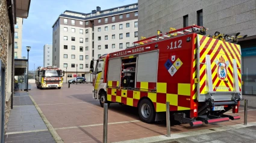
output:
M 10 20 L 8 17 L 7 1 L 2 1 L 0 4 L 0 59 L 7 71 L 7 50 L 8 50 L 8 32 L 10 32 Z M 13 34 L 13 33 L 12 33 Z M 10 66 L 10 65 L 9 65 Z M 11 80 L 11 77 L 7 77 L 5 72 L 5 96 L 7 96 L 7 80 Z M 11 99 L 5 102 L 5 129 L 8 123 L 8 117 L 11 110 Z

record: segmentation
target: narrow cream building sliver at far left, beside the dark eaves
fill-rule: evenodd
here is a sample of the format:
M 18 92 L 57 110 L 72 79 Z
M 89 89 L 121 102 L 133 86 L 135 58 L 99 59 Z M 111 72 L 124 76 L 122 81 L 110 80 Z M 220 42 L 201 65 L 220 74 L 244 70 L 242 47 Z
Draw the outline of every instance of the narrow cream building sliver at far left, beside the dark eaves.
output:
M 22 25 L 23 19 L 17 17 L 16 25 L 14 26 L 14 58 L 22 58 Z

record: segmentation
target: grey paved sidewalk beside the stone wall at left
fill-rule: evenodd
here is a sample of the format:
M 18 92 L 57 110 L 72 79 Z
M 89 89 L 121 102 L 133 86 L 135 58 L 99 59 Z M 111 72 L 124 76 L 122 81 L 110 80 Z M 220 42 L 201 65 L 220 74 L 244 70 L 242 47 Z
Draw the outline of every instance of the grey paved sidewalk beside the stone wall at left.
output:
M 14 94 L 5 142 L 55 142 L 25 91 L 16 91 Z

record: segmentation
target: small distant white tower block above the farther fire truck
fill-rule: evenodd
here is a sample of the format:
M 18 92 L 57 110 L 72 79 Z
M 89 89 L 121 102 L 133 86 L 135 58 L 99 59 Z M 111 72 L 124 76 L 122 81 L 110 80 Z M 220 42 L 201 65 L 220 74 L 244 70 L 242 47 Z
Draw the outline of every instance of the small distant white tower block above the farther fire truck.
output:
M 52 44 L 43 46 L 43 67 L 52 66 Z

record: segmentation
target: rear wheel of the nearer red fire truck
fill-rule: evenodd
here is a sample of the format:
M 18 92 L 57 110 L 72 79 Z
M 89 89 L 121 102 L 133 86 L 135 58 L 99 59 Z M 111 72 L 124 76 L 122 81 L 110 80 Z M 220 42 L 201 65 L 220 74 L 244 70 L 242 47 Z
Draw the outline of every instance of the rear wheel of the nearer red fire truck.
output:
M 153 123 L 155 121 L 155 109 L 153 103 L 148 99 L 142 99 L 139 103 L 140 119 L 145 123 Z

